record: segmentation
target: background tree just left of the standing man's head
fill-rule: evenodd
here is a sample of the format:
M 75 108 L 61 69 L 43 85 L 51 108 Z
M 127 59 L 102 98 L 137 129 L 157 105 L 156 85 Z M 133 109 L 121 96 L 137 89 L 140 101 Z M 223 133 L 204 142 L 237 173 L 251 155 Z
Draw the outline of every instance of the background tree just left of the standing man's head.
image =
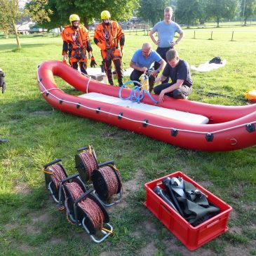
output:
M 140 0 L 139 15 L 149 20 L 152 25 L 163 20 L 163 10 L 170 5 L 170 0 Z

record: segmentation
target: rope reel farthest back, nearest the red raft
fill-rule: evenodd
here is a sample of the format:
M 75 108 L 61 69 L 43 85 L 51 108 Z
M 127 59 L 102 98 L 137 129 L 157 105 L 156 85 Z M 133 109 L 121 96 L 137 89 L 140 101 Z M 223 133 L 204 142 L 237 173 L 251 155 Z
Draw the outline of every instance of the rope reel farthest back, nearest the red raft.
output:
M 86 183 L 90 181 L 90 175 L 93 170 L 98 168 L 97 157 L 93 146 L 90 145 L 77 149 L 77 151 L 81 151 L 81 153 L 75 156 L 76 169 L 81 180 Z

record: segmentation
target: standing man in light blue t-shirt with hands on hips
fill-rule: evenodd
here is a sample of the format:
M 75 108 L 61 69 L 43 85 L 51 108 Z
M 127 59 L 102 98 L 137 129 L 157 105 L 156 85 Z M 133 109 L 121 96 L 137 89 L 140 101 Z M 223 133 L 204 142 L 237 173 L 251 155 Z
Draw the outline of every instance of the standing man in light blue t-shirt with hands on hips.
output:
M 166 53 L 168 50 L 174 48 L 175 44 L 179 43 L 184 36 L 183 30 L 177 25 L 176 22 L 173 22 L 173 8 L 166 7 L 164 9 L 164 20 L 157 22 L 156 25 L 149 32 L 151 40 L 156 44 L 157 49 L 156 53 L 159 53 L 163 60 L 166 60 Z M 154 36 L 155 33 L 158 33 L 158 39 Z M 175 32 L 180 34 L 179 38 L 174 41 Z M 159 68 L 159 63 L 155 62 L 154 69 Z M 167 81 L 168 82 L 168 79 Z

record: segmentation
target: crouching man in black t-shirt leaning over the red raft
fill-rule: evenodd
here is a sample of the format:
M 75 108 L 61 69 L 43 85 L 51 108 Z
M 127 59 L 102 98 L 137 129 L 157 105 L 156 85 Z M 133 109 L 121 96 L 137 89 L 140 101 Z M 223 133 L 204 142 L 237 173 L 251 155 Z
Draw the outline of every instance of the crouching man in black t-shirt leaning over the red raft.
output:
M 156 78 L 156 83 L 165 81 L 168 77 L 171 83 L 163 83 L 154 88 L 154 93 L 159 94 L 159 102 L 163 102 L 163 96 L 168 95 L 175 99 L 187 99 L 192 92 L 193 81 L 189 70 L 189 64 L 181 60 L 177 50 L 170 49 L 166 53 L 167 64 L 163 69 L 163 74 Z

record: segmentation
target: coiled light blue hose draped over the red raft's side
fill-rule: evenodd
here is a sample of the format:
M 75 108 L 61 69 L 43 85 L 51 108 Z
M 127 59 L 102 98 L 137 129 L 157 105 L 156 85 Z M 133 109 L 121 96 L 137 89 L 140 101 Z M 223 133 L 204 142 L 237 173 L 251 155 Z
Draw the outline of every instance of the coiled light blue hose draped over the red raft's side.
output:
M 121 91 L 129 83 L 137 83 L 137 84 L 139 84 L 139 86 L 133 86 L 133 88 L 130 91 L 130 96 L 122 97 L 121 96 Z M 150 93 L 147 90 L 142 89 L 142 84 L 139 83 L 138 81 L 128 81 L 126 83 L 123 83 L 123 86 L 121 86 L 121 88 L 119 89 L 119 97 L 120 97 L 121 100 L 130 100 L 131 102 L 140 102 L 140 100 L 142 100 L 144 98 L 144 95 L 148 95 L 149 98 L 155 104 L 158 103 L 158 101 L 154 100 L 154 98 L 150 95 Z

